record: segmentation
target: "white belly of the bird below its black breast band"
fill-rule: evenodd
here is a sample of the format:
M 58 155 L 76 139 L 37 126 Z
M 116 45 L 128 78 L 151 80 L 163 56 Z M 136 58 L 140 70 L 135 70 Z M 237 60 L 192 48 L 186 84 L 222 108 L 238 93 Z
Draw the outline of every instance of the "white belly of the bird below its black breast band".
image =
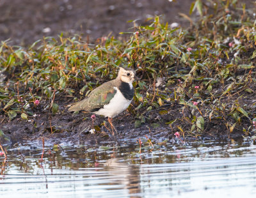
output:
M 113 118 L 127 109 L 132 100 L 127 100 L 117 88 L 115 96 L 110 100 L 108 105 L 104 105 L 103 109 L 95 112 L 97 115 Z

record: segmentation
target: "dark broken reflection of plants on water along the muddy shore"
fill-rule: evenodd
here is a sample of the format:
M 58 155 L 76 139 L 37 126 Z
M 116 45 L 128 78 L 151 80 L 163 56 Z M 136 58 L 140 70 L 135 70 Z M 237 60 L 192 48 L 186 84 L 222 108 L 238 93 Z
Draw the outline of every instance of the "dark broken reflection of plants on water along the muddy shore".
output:
M 194 142 L 193 146 L 184 146 L 183 144 L 166 143 L 164 146 L 154 146 L 152 149 L 145 141 L 141 147 L 139 144 L 131 144 L 121 147 L 109 147 L 109 145 L 99 148 L 46 148 L 44 160 L 41 163 L 42 149 L 13 149 L 8 151 L 8 158 L 4 163 L 4 158 L 0 162 L 4 166 L 2 174 L 10 174 L 10 171 L 24 172 L 26 174 L 49 174 L 51 169 L 86 169 L 108 166 L 108 162 L 114 160 L 116 167 L 124 164 L 173 164 L 177 162 L 191 162 L 204 158 L 220 158 L 230 156 L 243 156 L 252 153 L 250 143 L 243 142 L 237 144 L 232 141 L 228 146 L 227 142 L 216 143 L 214 141 Z M 110 161 L 109 161 L 110 160 Z M 205 159 L 207 160 L 207 159 Z M 112 164 L 113 165 L 113 164 Z M 111 165 L 109 165 L 111 166 Z M 44 171 L 42 169 L 44 167 Z M 108 168 L 106 168 L 108 169 Z M 52 172 L 56 174 L 56 172 Z

